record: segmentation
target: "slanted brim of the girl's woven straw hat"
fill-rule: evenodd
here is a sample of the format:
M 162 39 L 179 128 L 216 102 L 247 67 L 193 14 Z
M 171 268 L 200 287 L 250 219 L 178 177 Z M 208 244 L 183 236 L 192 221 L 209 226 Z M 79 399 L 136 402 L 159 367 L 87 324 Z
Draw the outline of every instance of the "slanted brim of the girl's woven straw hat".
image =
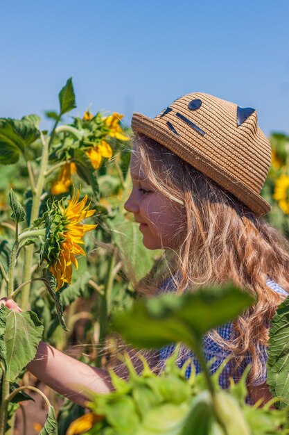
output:
M 264 215 L 271 210 L 270 204 L 261 195 L 254 192 L 254 190 L 246 186 L 239 179 L 234 178 L 231 174 L 227 174 L 222 167 L 210 161 L 204 154 L 200 154 L 198 149 L 194 149 L 194 154 L 192 154 L 192 145 L 186 144 L 182 138 L 175 136 L 155 120 L 141 115 L 141 113 L 134 113 L 132 115 L 132 130 L 137 133 L 143 133 L 161 143 L 161 145 L 164 145 L 170 151 L 173 151 L 182 160 L 207 175 L 207 177 L 218 183 L 219 186 L 228 192 L 231 192 L 256 215 Z

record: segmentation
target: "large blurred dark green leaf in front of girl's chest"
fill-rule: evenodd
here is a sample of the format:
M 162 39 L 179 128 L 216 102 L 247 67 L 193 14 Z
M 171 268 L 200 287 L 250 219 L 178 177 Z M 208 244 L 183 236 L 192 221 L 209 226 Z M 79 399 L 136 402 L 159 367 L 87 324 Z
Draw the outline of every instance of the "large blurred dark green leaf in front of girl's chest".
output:
M 182 341 L 195 350 L 209 329 L 233 320 L 253 302 L 251 295 L 233 284 L 181 296 L 160 295 L 135 302 L 131 311 L 117 313 L 112 329 L 135 347 Z

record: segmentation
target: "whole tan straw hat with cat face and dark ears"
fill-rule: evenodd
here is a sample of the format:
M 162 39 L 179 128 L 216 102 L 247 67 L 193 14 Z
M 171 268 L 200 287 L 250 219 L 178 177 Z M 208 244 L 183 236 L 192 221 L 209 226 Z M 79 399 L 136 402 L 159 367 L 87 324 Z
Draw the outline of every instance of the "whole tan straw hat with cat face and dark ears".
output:
M 173 151 L 256 215 L 270 211 L 260 192 L 270 167 L 271 147 L 253 108 L 193 92 L 175 100 L 153 120 L 134 113 L 132 130 Z

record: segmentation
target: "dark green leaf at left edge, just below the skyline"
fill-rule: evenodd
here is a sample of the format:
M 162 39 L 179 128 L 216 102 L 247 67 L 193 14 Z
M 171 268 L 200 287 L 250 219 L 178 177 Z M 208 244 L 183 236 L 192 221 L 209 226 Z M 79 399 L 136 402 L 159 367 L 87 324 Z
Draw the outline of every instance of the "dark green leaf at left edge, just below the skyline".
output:
M 37 115 L 24 116 L 21 120 L 0 119 L 0 163 L 16 163 L 20 154 L 25 154 L 26 147 L 40 136 L 39 122 Z

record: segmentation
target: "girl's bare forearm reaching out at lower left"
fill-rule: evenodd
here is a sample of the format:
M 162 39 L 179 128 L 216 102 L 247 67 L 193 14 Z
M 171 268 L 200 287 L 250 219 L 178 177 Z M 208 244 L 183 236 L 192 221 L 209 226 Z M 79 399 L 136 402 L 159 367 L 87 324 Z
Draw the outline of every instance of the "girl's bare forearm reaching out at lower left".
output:
M 82 407 L 88 400 L 85 388 L 97 393 L 112 390 L 106 370 L 87 366 L 43 342 L 40 342 L 35 359 L 27 368 L 44 384 Z

